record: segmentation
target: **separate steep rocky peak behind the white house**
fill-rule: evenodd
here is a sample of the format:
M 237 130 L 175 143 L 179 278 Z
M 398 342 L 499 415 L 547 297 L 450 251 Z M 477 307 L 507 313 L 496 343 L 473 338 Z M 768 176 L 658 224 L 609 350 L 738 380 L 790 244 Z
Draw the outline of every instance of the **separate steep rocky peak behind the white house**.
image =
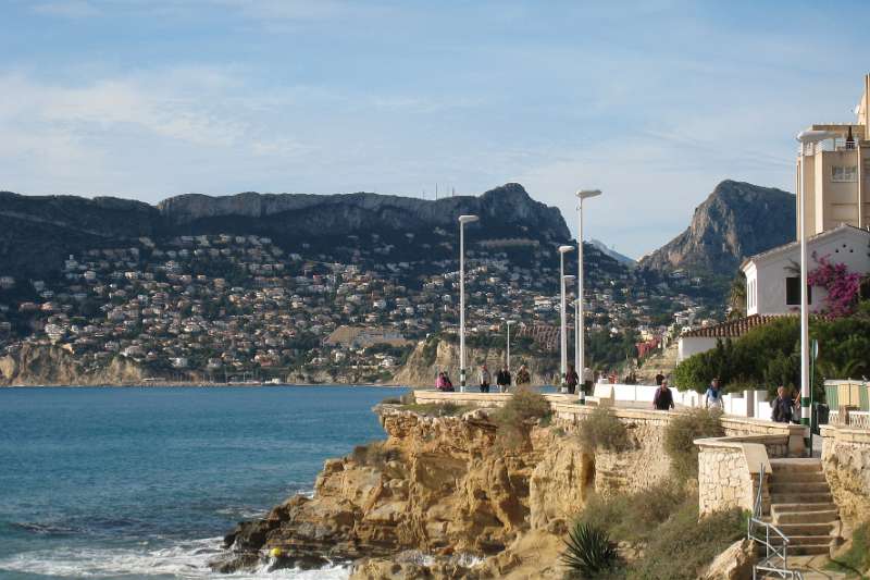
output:
M 793 194 L 726 180 L 695 208 L 682 234 L 642 258 L 639 266 L 733 276 L 744 258 L 795 235 Z

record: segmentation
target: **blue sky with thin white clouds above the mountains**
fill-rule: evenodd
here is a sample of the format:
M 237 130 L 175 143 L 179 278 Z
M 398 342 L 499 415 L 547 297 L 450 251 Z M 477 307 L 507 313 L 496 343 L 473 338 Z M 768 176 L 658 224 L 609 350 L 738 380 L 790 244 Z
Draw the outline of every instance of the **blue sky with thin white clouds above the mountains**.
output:
M 870 3 L 0 0 L 0 189 L 478 195 L 600 188 L 639 257 L 724 178 L 793 190 L 848 122 Z M 862 62 L 863 61 L 863 62 Z

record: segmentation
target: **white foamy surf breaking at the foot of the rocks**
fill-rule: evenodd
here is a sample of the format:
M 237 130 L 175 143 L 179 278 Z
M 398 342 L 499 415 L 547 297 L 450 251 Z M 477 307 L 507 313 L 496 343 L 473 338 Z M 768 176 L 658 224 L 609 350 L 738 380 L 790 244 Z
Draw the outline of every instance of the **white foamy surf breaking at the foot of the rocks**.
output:
M 232 579 L 288 578 L 293 580 L 346 580 L 346 566 L 326 566 L 316 570 L 284 569 L 269 571 L 266 566 L 253 572 L 216 573 L 208 566 L 219 555 L 221 539 L 183 542 L 169 547 L 148 548 L 73 548 L 24 552 L 0 559 L 0 571 L 14 571 L 61 578 L 151 578 Z

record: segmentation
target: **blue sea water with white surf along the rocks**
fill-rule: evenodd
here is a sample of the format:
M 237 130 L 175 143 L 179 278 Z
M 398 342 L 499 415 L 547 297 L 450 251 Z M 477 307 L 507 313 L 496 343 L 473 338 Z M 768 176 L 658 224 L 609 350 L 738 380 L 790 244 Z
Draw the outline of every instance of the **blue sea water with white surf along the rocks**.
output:
M 221 536 L 309 493 L 324 459 L 383 439 L 371 408 L 401 393 L 0 388 L 0 578 L 227 578 L 206 566 Z

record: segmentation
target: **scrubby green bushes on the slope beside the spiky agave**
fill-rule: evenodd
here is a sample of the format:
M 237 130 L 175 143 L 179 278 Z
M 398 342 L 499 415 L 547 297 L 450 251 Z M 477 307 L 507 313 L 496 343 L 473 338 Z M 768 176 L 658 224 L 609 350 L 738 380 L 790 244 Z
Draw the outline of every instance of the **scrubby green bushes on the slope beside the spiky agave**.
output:
M 696 494 L 662 483 L 611 499 L 593 497 L 579 522 L 602 530 L 614 542 L 644 547 L 637 559 L 618 560 L 619 568 L 606 578 L 692 580 L 743 536 L 746 519 L 737 509 L 699 519 Z

